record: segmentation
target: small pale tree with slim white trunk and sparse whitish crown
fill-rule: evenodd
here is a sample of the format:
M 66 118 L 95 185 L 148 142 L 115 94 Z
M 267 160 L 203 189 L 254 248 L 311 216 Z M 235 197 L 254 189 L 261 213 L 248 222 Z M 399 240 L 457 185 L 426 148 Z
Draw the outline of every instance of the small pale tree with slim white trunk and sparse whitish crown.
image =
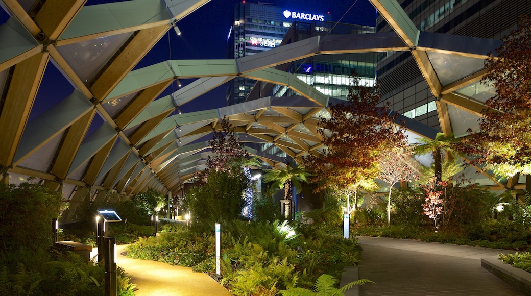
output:
M 412 165 L 408 161 L 408 152 L 401 148 L 389 149 L 380 154 L 378 178 L 389 184 L 387 198 L 387 224 L 391 223 L 391 190 L 400 181 L 413 181 L 418 179 Z

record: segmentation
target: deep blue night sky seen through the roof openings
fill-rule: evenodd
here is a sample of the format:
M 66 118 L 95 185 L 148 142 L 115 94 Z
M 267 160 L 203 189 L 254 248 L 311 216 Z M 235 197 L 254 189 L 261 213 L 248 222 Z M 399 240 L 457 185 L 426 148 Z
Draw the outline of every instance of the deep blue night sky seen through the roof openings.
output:
M 88 0 L 85 5 L 117 2 L 113 0 Z M 151 49 L 151 51 L 136 65 L 134 69 L 150 66 L 168 59 L 225 59 L 227 58 L 227 37 L 234 20 L 235 0 L 212 0 L 198 10 L 177 23 L 181 36 L 174 30 L 168 33 Z M 259 3 L 259 1 L 247 1 Z M 316 14 L 330 13 L 332 21 L 361 25 L 375 25 L 376 11 L 368 0 L 339 1 L 324 3 L 318 0 L 269 0 L 261 2 L 280 6 L 292 11 L 305 11 Z M 0 24 L 4 23 L 8 15 L 0 10 Z M 340 20 L 341 19 L 341 20 Z M 182 80 L 182 85 L 193 81 Z M 174 83 L 164 91 L 164 97 L 176 91 Z M 48 65 L 43 83 L 37 94 L 30 119 L 35 118 L 42 111 L 63 100 L 73 91 L 61 73 Z M 204 94 L 180 107 L 183 112 L 192 112 L 225 106 L 225 85 Z

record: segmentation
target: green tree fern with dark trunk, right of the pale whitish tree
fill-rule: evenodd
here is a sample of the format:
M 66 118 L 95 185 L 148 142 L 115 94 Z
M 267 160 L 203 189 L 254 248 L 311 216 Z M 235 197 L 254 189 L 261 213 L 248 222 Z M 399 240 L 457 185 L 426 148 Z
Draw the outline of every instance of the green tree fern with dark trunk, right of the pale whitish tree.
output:
M 444 133 L 437 133 L 435 135 L 435 138 L 433 140 L 420 138 L 418 140 L 418 145 L 414 147 L 413 153 L 414 154 L 431 154 L 433 157 L 433 170 L 434 170 L 434 178 L 435 183 L 439 184 L 439 182 L 442 180 L 442 162 L 444 159 L 444 154 L 448 156 L 448 160 L 452 161 L 456 158 L 456 153 L 458 153 L 455 149 L 456 143 L 459 142 L 459 140 L 453 135 L 447 136 Z

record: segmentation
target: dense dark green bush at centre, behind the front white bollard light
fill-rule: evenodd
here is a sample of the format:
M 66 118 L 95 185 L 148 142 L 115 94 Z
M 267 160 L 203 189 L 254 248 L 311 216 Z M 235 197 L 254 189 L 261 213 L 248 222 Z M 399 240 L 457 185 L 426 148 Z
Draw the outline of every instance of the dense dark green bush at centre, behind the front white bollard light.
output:
M 192 212 L 194 221 L 210 226 L 221 220 L 241 218 L 245 206 L 243 192 L 251 184 L 243 170 L 235 171 L 211 170 L 206 181 L 190 189 L 183 203 Z

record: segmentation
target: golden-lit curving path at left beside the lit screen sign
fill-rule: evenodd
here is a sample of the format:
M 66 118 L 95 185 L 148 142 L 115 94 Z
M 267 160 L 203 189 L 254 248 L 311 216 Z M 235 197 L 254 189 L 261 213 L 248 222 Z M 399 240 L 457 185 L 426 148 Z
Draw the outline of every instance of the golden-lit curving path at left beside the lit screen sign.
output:
M 131 275 L 136 296 L 229 296 L 230 293 L 209 275 L 192 268 L 167 263 L 132 259 L 121 255 L 127 245 L 117 246 L 116 263 Z

